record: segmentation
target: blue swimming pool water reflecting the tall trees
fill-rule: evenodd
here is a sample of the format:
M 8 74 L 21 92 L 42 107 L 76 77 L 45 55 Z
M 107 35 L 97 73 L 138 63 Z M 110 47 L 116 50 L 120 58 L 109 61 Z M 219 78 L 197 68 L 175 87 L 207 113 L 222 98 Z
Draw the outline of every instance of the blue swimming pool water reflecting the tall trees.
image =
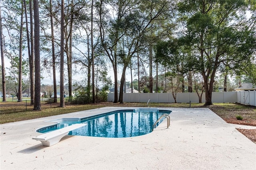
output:
M 85 123 L 84 127 L 70 131 L 68 135 L 92 136 L 92 137 L 135 137 L 152 132 L 152 126 L 164 113 L 169 110 L 159 109 L 128 109 L 117 110 L 92 117 L 55 119 L 57 124 L 38 129 L 40 133 L 46 133 L 75 123 Z M 165 119 L 164 117 L 159 121 Z M 156 126 L 158 126 L 158 124 Z

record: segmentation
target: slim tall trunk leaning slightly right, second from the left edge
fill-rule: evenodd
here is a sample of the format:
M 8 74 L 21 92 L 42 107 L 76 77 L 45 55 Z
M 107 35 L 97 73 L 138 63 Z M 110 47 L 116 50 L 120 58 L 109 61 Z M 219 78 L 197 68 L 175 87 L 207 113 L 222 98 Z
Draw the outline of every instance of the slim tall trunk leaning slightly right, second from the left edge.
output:
M 23 4 L 20 16 L 20 54 L 19 54 L 19 88 L 18 88 L 18 102 L 22 101 L 22 39 L 23 39 Z

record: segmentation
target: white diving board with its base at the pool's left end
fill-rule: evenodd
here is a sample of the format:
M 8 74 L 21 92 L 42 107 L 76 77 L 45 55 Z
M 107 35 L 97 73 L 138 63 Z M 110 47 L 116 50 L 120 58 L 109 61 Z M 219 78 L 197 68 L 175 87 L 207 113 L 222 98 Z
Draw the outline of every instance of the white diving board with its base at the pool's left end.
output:
M 42 142 L 43 146 L 50 147 L 52 145 L 55 145 L 56 143 L 60 142 L 60 140 L 68 135 L 70 131 L 73 131 L 75 129 L 78 129 L 80 127 L 85 126 L 86 124 L 73 124 L 61 129 L 57 129 L 55 131 L 51 131 L 48 133 L 43 133 L 42 135 L 32 137 L 32 139 L 35 139 L 37 141 Z

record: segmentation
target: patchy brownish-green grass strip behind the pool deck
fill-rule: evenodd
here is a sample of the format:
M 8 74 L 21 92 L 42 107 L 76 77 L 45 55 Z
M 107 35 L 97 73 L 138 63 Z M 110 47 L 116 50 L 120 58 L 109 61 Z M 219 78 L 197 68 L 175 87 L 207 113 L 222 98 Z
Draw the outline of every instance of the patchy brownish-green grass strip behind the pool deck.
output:
M 58 107 L 57 104 L 46 104 L 41 102 L 41 111 L 34 111 L 30 106 L 30 101 L 22 100 L 22 102 L 0 102 L 0 124 L 10 123 L 15 121 L 23 121 L 29 119 L 36 119 L 40 117 L 47 117 L 53 115 L 60 115 L 82 110 L 95 109 L 100 107 L 147 107 L 146 103 L 124 103 L 113 104 L 112 102 L 104 102 L 98 104 L 85 105 L 68 105 L 66 107 Z M 242 113 L 243 117 L 256 119 L 256 107 L 246 106 L 241 104 L 214 104 L 211 106 L 204 106 L 204 104 L 192 103 L 151 103 L 150 107 L 208 107 L 221 117 L 235 117 L 237 113 Z

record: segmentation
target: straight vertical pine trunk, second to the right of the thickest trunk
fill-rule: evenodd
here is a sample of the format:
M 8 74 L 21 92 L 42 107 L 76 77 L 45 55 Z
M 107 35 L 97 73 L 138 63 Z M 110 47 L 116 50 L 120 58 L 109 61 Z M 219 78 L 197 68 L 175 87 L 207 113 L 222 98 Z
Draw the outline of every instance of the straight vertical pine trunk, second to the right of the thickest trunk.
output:
M 60 107 L 65 107 L 64 102 L 64 0 L 61 0 L 60 19 Z

